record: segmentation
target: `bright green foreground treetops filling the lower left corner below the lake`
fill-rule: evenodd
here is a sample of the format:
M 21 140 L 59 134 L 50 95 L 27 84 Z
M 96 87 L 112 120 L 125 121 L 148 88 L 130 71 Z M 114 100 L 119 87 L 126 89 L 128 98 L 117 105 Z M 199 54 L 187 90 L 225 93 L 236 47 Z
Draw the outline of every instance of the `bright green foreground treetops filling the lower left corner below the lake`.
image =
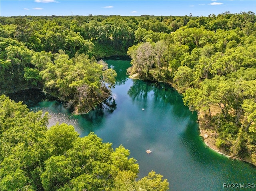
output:
M 2 191 L 169 190 L 154 171 L 136 181 L 139 165 L 122 145 L 114 150 L 94 133 L 80 138 L 64 123 L 47 128 L 47 112 L 0 98 Z

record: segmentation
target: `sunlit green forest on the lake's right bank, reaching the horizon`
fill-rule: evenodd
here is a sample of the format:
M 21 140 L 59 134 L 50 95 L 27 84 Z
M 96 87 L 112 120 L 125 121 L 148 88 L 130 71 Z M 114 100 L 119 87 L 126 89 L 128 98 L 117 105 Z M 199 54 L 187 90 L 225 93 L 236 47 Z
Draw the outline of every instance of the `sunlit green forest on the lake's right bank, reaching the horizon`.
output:
M 250 156 L 256 163 L 255 14 L 225 12 L 162 22 L 172 26 L 171 33 L 155 31 L 158 38 L 149 35 L 152 22 L 140 22 L 135 32 L 138 44 L 127 51 L 132 59 L 128 72 L 171 83 L 182 93 L 184 104 L 218 133 L 216 146 L 239 158 Z

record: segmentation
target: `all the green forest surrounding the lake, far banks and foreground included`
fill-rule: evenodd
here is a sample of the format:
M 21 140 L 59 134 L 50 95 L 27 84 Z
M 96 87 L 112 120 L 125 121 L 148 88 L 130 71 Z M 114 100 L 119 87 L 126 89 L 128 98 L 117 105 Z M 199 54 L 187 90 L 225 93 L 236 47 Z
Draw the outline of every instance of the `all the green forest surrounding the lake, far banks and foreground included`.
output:
M 1 94 L 37 87 L 76 114 L 88 112 L 115 85 L 115 71 L 100 58 L 129 55 L 132 77 L 171 83 L 216 147 L 256 164 L 253 12 L 1 17 L 0 33 Z M 94 134 L 78 138 L 73 127 L 46 124 L 47 114 L 1 97 L 3 190 L 168 189 L 154 172 L 135 181 L 138 166 L 122 146 L 113 151 Z M 63 140 L 54 137 L 63 129 Z

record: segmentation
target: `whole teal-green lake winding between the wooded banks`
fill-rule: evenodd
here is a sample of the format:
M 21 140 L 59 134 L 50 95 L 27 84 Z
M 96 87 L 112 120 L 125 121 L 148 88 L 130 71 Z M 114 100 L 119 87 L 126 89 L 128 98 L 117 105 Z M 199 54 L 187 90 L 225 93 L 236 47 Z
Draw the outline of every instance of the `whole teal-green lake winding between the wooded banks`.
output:
M 122 144 L 130 150 L 130 157 L 138 160 L 139 177 L 154 170 L 168 179 L 170 190 L 234 190 L 223 185 L 235 183 L 244 184 L 236 190 L 255 189 L 248 188 L 248 184 L 256 183 L 256 168 L 209 149 L 199 136 L 196 113 L 184 106 L 172 87 L 129 79 L 126 69 L 130 61 L 126 57 L 105 61 L 117 72 L 111 106 L 102 103 L 88 114 L 77 116 L 38 89 L 8 96 L 22 100 L 30 110 L 48 111 L 49 126 L 65 122 L 73 125 L 81 137 L 95 132 L 103 142 L 112 142 L 113 148 Z M 147 149 L 152 153 L 147 154 Z

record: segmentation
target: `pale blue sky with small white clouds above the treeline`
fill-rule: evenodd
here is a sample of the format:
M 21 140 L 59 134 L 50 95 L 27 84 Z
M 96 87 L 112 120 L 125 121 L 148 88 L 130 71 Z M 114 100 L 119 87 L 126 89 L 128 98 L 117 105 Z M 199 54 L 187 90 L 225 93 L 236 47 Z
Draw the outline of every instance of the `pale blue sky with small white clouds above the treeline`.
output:
M 256 13 L 256 0 L 0 0 L 0 16 L 193 16 Z

